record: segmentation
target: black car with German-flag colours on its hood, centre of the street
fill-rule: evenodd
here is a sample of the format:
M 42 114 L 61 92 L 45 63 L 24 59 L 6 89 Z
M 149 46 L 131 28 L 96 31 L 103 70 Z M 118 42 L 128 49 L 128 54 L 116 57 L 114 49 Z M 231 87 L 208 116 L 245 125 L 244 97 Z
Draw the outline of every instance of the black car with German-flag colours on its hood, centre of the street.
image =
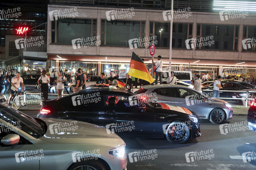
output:
M 184 143 L 201 134 L 195 113 L 144 101 L 145 97 L 132 93 L 92 88 L 45 101 L 37 117 L 90 122 L 128 137 L 166 136 L 172 143 Z

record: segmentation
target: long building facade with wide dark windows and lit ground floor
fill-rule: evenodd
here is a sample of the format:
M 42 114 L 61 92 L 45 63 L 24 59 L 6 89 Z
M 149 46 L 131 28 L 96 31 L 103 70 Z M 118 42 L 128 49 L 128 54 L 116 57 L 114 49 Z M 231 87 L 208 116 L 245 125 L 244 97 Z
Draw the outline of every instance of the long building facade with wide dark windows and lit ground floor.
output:
M 48 5 L 47 54 L 52 60 L 48 68 L 71 71 L 81 67 L 92 75 L 111 70 L 126 73 L 132 52 L 150 58 L 149 46 L 155 44 L 154 57 L 161 55 L 168 70 L 170 15 L 165 7 Z M 243 40 L 255 39 L 256 15 L 242 13 L 221 16 L 219 11 L 177 8 L 173 19 L 173 69 L 192 70 L 194 74 L 206 71 L 215 76 L 246 67 L 247 74 L 254 76 L 255 43 Z

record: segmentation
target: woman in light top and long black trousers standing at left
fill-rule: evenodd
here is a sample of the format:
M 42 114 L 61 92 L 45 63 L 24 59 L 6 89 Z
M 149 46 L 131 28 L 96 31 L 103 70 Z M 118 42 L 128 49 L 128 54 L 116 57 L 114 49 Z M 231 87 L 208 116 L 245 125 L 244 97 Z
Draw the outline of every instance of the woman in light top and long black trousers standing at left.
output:
M 49 87 L 48 83 L 50 82 L 49 77 L 46 75 L 46 71 L 43 71 L 43 75 L 40 76 L 40 78 L 37 80 L 37 83 L 39 84 L 39 87 L 41 88 L 41 100 L 48 100 L 48 92 Z M 41 85 L 39 83 L 39 80 L 41 80 Z

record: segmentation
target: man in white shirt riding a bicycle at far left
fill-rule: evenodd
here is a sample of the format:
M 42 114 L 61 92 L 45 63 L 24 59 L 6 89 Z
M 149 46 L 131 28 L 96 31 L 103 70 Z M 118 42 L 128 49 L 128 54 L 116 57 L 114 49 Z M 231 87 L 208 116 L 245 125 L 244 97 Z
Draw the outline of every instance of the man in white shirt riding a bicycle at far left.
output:
M 22 84 L 22 88 L 20 88 L 20 84 Z M 12 99 L 12 96 L 14 95 L 14 92 L 17 91 L 17 94 L 18 95 L 22 95 L 22 90 L 23 90 L 23 78 L 20 77 L 20 73 L 19 72 L 16 72 L 16 76 L 14 76 L 12 79 L 11 79 L 11 96 L 9 98 L 9 104 L 11 102 L 11 99 Z M 24 104 L 22 104 L 24 105 Z

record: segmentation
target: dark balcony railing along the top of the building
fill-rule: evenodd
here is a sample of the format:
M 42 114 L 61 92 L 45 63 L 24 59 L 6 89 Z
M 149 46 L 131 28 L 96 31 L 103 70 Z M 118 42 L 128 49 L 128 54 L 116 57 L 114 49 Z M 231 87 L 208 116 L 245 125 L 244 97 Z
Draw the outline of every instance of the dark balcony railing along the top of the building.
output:
M 50 0 L 52 4 L 61 5 L 95 5 L 142 8 L 170 8 L 171 0 Z M 190 7 L 191 11 L 211 11 L 212 0 L 176 0 L 174 9 Z

